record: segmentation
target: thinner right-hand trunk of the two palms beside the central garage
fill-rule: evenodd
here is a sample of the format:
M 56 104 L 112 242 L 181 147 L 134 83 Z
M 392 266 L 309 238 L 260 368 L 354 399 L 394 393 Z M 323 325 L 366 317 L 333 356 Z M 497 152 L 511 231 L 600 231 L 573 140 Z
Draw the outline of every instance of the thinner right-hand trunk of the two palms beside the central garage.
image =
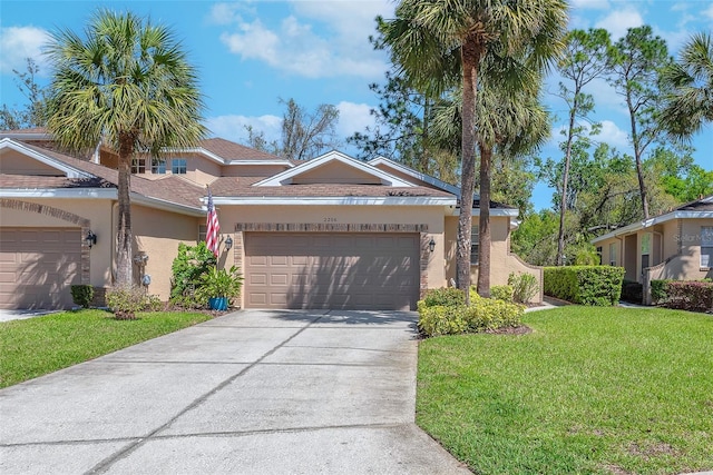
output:
M 490 297 L 490 166 L 492 148 L 480 149 L 480 219 L 478 221 L 478 295 Z

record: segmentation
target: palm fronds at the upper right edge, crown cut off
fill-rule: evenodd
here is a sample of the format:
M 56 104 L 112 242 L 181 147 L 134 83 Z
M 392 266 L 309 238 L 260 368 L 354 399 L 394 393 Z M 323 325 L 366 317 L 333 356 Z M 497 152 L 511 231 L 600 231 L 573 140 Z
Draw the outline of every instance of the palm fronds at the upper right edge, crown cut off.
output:
M 678 61 L 662 73 L 667 90 L 658 121 L 674 138 L 697 133 L 713 122 L 713 39 L 696 33 L 683 47 Z

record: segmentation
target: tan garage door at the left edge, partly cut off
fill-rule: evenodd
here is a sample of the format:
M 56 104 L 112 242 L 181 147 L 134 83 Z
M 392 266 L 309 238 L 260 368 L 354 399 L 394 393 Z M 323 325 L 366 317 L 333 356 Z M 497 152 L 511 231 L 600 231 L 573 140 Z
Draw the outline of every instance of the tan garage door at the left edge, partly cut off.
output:
M 68 308 L 80 284 L 78 228 L 0 229 L 0 308 Z

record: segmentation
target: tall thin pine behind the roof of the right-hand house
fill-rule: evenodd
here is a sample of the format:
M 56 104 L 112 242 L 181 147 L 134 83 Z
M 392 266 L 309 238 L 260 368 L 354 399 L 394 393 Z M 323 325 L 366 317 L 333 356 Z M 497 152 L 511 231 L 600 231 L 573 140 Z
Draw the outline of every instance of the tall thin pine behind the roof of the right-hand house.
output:
M 648 219 L 648 199 L 644 181 L 644 154 L 658 136 L 655 121 L 662 109 L 658 75 L 671 63 L 666 42 L 654 37 L 649 26 L 629 28 L 609 50 L 609 82 L 624 97 L 629 115 L 632 147 L 636 162 L 638 188 L 644 219 Z

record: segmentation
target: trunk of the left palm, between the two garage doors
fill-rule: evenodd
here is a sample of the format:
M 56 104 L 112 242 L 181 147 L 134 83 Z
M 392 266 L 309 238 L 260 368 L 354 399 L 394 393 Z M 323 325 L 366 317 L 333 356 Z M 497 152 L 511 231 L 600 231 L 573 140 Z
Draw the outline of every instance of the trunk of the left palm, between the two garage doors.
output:
M 134 157 L 134 139 L 125 133 L 119 137 L 119 185 L 117 190 L 119 201 L 119 221 L 117 228 L 116 249 L 116 285 L 131 286 L 131 159 Z

